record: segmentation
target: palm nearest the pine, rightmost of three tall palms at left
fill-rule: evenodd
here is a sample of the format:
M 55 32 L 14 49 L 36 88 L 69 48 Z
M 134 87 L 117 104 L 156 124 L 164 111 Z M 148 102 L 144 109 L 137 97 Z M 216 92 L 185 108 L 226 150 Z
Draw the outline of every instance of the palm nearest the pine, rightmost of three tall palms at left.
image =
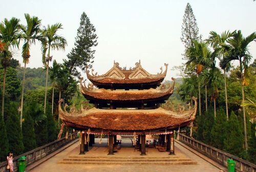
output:
M 52 59 L 52 56 L 50 56 L 51 49 L 65 50 L 65 46 L 67 45 L 67 40 L 64 37 L 57 34 L 57 32 L 60 29 L 62 29 L 62 25 L 57 23 L 51 26 L 48 25 L 47 28 L 44 27 L 44 29 L 42 29 L 42 32 L 41 32 L 41 36 L 43 37 L 41 41 L 42 61 L 46 66 L 46 89 L 45 89 L 44 113 L 46 113 L 49 61 Z M 47 51 L 48 51 L 48 54 L 46 56 Z

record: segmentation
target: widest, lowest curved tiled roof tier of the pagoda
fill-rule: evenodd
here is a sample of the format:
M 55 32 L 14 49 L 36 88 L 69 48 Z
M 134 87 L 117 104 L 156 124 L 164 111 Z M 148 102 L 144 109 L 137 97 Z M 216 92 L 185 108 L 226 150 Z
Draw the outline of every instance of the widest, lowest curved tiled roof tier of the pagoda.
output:
M 155 110 L 81 110 L 81 113 L 68 113 L 61 109 L 59 102 L 59 117 L 71 127 L 98 128 L 114 131 L 145 131 L 172 126 L 183 126 L 195 119 L 195 107 L 181 113 L 166 111 L 162 108 Z

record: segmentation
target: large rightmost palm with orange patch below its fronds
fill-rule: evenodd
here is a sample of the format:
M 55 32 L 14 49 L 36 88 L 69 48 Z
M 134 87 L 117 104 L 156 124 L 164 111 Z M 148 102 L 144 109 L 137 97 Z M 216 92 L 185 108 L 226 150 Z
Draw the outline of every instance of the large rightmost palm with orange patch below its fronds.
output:
M 251 60 L 251 55 L 248 51 L 248 45 L 251 41 L 256 39 L 256 32 L 251 33 L 247 37 L 243 37 L 241 30 L 235 31 L 233 37 L 226 41 L 226 44 L 221 46 L 228 52 L 220 62 L 222 69 L 226 69 L 229 62 L 233 60 L 239 60 L 240 73 L 241 73 L 241 91 L 242 102 L 244 102 L 244 85 L 248 85 L 247 70 L 248 64 Z M 246 132 L 246 116 L 245 107 L 243 106 L 243 118 L 244 118 L 244 137 L 245 137 L 245 149 L 248 150 L 247 144 L 247 132 Z

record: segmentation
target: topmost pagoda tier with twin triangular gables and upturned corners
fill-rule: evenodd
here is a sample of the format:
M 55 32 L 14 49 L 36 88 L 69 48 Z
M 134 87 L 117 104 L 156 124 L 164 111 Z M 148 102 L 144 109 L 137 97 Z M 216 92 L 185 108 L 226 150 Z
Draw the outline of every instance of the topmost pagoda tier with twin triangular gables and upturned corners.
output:
M 114 62 L 114 66 L 105 74 L 90 74 L 88 67 L 86 68 L 87 78 L 98 88 L 105 89 L 149 89 L 158 87 L 167 73 L 168 64 L 164 64 L 165 71 L 158 74 L 150 74 L 144 70 L 140 62 L 135 63 L 135 68 L 120 68 L 118 62 Z

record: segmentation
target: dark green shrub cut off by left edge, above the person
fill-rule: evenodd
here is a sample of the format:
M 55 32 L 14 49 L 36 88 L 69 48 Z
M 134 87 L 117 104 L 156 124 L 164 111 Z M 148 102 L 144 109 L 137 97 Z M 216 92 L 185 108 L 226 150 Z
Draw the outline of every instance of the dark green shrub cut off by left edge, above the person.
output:
M 6 126 L 2 115 L 0 114 L 0 162 L 6 161 L 6 156 L 9 151 L 8 137 L 6 133 Z

